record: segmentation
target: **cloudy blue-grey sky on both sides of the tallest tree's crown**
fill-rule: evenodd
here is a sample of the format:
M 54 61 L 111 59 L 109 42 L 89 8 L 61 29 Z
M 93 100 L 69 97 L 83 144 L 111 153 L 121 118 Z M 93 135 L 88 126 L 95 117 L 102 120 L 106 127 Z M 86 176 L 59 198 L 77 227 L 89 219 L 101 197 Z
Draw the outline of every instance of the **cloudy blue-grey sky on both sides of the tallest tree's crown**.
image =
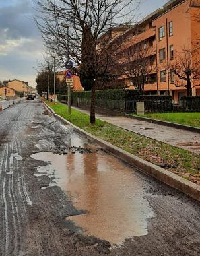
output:
M 141 18 L 166 0 L 142 0 Z M 0 81 L 20 79 L 36 86 L 38 61 L 44 56 L 42 38 L 34 24 L 33 0 L 0 0 Z

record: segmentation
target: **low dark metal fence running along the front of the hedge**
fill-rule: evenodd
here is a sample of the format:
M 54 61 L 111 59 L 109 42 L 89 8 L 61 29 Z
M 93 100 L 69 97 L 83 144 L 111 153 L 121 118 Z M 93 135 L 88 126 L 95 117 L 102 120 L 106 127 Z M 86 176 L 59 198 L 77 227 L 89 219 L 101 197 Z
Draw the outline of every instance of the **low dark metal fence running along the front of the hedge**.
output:
M 96 107 L 109 110 L 116 110 L 122 113 L 136 113 L 137 102 L 139 100 L 106 100 L 96 99 Z M 80 108 L 90 108 L 90 98 L 73 98 L 73 106 Z M 197 100 L 145 100 L 145 113 L 164 113 L 164 112 L 186 112 L 200 111 L 200 102 Z

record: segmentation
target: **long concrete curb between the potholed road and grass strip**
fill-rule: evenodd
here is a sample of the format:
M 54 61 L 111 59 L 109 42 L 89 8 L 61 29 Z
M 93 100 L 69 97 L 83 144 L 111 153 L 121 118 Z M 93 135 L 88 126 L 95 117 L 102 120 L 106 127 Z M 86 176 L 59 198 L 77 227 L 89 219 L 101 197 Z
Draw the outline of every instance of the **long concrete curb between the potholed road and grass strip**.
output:
M 109 152 L 114 154 L 114 156 L 116 156 L 117 158 L 120 158 L 121 160 L 131 164 L 132 166 L 135 166 L 136 168 L 141 170 L 141 172 L 151 175 L 152 177 L 162 181 L 163 183 L 166 183 L 170 187 L 174 187 L 174 189 L 178 189 L 179 191 L 185 193 L 186 195 L 193 197 L 193 199 L 200 201 L 199 185 L 192 183 L 191 181 L 187 181 L 186 179 L 183 179 L 182 177 L 179 177 L 178 175 L 173 174 L 172 172 L 164 170 L 164 168 L 160 168 L 155 164 L 147 162 L 133 154 L 130 154 L 129 152 L 126 152 L 125 150 L 121 150 L 120 148 L 113 146 L 112 144 L 102 139 L 99 139 L 94 135 L 91 135 L 90 133 L 87 133 L 86 131 L 73 125 L 73 123 L 70 123 L 63 117 L 55 114 L 55 112 L 45 102 L 44 104 L 46 105 L 48 110 L 50 110 L 51 113 L 53 113 L 53 115 L 57 117 L 57 119 L 61 120 L 63 123 L 67 125 L 71 125 L 78 133 L 85 135 L 88 139 L 92 139 L 92 141 L 98 143 L 105 150 L 108 150 Z

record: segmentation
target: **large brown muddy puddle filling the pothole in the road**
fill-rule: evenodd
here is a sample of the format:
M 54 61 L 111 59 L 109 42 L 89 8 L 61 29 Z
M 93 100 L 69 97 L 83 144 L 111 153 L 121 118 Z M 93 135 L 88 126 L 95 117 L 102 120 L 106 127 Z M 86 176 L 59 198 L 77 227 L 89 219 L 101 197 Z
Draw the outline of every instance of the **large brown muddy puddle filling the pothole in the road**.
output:
M 134 168 L 96 147 L 71 139 L 71 146 L 92 148 L 92 153 L 59 155 L 40 152 L 32 158 L 48 162 L 36 176 L 53 177 L 71 195 L 73 205 L 87 213 L 70 216 L 84 234 L 121 244 L 126 238 L 148 234 L 148 220 L 154 212 L 145 199 L 145 181 Z M 44 188 L 45 189 L 45 188 Z

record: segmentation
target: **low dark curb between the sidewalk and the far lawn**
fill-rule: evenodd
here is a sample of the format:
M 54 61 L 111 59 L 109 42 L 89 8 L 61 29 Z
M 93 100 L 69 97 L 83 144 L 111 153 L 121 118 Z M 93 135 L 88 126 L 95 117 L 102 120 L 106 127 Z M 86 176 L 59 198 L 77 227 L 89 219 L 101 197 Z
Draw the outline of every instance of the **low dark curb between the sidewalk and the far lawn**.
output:
M 158 125 L 164 125 L 164 126 L 168 126 L 168 127 L 177 128 L 177 129 L 193 131 L 195 133 L 200 133 L 200 128 L 198 128 L 198 127 L 193 127 L 193 126 L 188 126 L 188 125 L 180 125 L 179 123 L 171 123 L 171 122 L 167 122 L 167 121 L 161 121 L 158 119 L 151 119 L 149 117 L 132 116 L 129 114 L 125 114 L 125 117 L 129 117 L 131 119 L 137 119 L 137 120 L 141 120 L 141 121 L 146 121 L 149 123 L 156 123 Z

